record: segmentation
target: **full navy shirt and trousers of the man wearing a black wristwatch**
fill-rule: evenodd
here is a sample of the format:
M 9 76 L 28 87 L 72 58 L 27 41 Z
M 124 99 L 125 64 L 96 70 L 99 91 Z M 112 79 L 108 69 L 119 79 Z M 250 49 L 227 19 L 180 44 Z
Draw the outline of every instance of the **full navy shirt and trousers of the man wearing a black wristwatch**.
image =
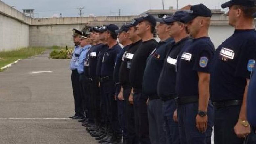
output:
M 178 95 L 177 113 L 181 144 L 211 144 L 213 126 L 211 102 L 208 104 L 206 132 L 201 133 L 196 128 L 196 116 L 199 98 L 198 72 L 210 73 L 213 53 L 214 46 L 210 38 L 201 37 L 186 43 L 178 56 L 176 92 Z

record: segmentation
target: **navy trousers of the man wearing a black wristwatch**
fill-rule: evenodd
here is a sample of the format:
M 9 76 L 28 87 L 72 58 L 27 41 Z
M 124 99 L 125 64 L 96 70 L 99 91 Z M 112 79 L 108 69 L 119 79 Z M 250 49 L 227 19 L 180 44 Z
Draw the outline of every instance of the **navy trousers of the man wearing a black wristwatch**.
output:
M 208 104 L 208 125 L 204 133 L 196 128 L 196 116 L 198 114 L 198 102 L 178 105 L 178 125 L 181 144 L 211 144 L 213 126 L 213 106 Z

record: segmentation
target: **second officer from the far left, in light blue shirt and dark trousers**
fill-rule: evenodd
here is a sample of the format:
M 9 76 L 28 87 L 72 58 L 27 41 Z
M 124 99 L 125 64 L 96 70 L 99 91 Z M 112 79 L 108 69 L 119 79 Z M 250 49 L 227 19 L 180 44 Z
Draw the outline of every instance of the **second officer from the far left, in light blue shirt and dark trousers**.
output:
M 89 97 L 89 93 L 87 90 L 87 85 L 88 85 L 88 81 L 87 81 L 87 77 L 84 71 L 84 62 L 85 62 L 85 58 L 86 58 L 86 54 L 88 52 L 88 50 L 91 48 L 91 45 L 88 44 L 88 35 L 86 32 L 82 31 L 82 34 L 80 36 L 80 49 L 81 49 L 81 53 L 80 56 L 78 58 L 77 61 L 77 70 L 79 73 L 79 82 L 80 82 L 80 94 L 82 97 L 82 106 L 84 108 L 84 112 L 85 114 L 87 113 L 87 109 L 86 109 L 86 104 L 87 104 L 87 100 Z M 81 120 L 79 120 L 78 122 L 83 122 L 85 120 L 85 117 Z

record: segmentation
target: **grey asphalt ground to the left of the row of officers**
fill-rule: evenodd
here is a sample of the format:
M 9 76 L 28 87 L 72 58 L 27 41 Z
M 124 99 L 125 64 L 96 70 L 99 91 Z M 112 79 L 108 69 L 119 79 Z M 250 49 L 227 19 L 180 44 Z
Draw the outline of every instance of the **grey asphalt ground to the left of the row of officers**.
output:
M 74 109 L 69 60 L 47 59 L 49 52 L 0 73 L 0 144 L 97 143 L 67 118 Z M 54 73 L 30 74 L 36 71 Z

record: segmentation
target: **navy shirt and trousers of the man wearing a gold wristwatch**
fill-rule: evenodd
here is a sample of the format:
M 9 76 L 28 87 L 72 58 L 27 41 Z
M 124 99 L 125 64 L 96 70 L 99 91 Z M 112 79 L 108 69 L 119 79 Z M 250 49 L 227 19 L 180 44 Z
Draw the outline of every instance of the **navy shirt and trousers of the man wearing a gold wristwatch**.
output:
M 216 50 L 210 88 L 215 105 L 214 141 L 243 143 L 234 132 L 238 121 L 246 79 L 250 79 L 256 58 L 256 31 L 235 30 Z M 229 105 L 231 103 L 231 105 Z

